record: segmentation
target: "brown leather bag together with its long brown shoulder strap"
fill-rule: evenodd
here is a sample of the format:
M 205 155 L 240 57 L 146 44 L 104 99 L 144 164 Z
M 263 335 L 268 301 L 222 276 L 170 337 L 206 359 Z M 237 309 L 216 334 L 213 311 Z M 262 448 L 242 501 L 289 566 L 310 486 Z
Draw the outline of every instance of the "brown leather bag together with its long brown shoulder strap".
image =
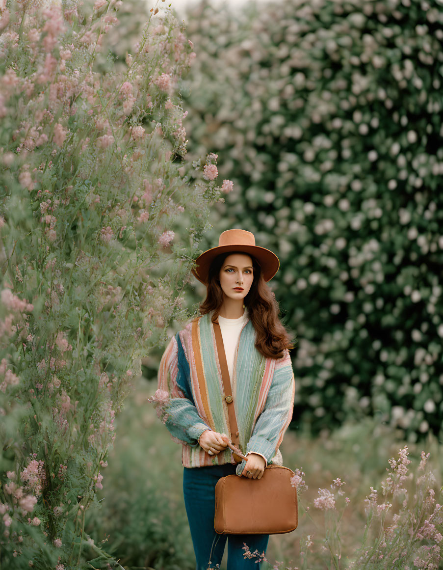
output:
M 239 432 L 233 406 L 231 381 L 224 352 L 222 331 L 214 323 L 215 340 L 222 371 L 224 400 L 228 405 L 229 429 L 235 461 L 246 459 L 233 443 Z M 261 479 L 227 475 L 215 486 L 214 528 L 218 534 L 284 534 L 298 525 L 297 489 L 291 484 L 293 471 L 268 465 Z

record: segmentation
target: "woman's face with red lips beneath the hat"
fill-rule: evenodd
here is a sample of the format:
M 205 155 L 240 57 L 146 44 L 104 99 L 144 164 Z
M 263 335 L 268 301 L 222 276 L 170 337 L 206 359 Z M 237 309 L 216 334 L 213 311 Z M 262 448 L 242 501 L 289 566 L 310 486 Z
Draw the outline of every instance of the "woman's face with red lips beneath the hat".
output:
M 225 258 L 220 269 L 220 286 L 229 299 L 244 299 L 254 278 L 250 255 L 233 253 Z

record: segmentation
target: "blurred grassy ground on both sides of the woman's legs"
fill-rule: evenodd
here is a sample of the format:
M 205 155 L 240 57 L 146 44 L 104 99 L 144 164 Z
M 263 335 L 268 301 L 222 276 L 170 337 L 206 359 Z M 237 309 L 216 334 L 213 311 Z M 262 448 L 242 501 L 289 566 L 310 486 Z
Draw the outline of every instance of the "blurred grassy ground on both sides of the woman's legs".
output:
M 151 359 L 152 355 L 147 360 Z M 128 570 L 192 570 L 195 557 L 182 494 L 181 446 L 147 404 L 157 386 L 155 374 L 150 378 L 137 380 L 116 420 L 118 438 L 98 492 L 101 509 L 87 512 L 85 530 Z M 263 564 L 264 570 L 324 570 L 337 565 L 351 570 L 351 562 L 354 570 L 365 564 L 371 570 L 388 570 L 392 564 L 412 570 L 416 559 L 426 559 L 424 547 L 434 560 L 440 556 L 441 443 L 429 435 L 423 447 L 408 445 L 409 454 L 404 449 L 399 454 L 401 446 L 393 430 L 373 418 L 346 422 L 317 438 L 286 432 L 281 452 L 284 465 L 298 477 L 299 524 L 294 532 L 270 536 L 266 559 L 271 564 Z M 423 448 L 430 452 L 427 458 L 424 454 L 425 461 Z M 388 462 L 389 457 L 396 463 Z M 322 496 L 326 499 L 318 501 Z M 221 568 L 226 568 L 223 562 Z

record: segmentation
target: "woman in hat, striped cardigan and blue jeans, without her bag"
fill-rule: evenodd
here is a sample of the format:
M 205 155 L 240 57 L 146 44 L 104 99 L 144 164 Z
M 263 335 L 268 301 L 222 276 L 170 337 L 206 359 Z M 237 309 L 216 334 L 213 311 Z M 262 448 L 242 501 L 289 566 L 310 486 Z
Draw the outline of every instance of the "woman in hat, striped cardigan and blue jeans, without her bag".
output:
M 260 554 L 268 545 L 269 535 L 216 534 L 215 484 L 232 473 L 260 479 L 266 465 L 281 465 L 278 447 L 292 418 L 294 374 L 293 344 L 266 285 L 279 264 L 272 251 L 255 245 L 251 232 L 224 231 L 193 270 L 207 287 L 202 316 L 173 336 L 160 363 L 153 400 L 183 445 L 184 503 L 197 570 L 220 564 L 226 540 L 228 570 L 257 570 L 256 558 L 244 559 L 244 544 Z M 237 430 L 231 433 L 233 417 Z M 229 449 L 229 440 L 247 459 Z

